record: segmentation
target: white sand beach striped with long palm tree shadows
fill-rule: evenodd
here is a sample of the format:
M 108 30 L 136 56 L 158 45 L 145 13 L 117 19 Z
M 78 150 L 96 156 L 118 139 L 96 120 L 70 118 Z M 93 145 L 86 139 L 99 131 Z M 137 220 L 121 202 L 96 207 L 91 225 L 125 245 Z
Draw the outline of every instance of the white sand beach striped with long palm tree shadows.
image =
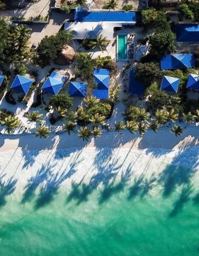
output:
M 125 183 L 140 177 L 142 183 L 153 181 L 157 187 L 161 176 L 168 178 L 168 166 L 175 166 L 176 170 L 184 170 L 187 181 L 198 186 L 198 136 L 198 129 L 193 127 L 185 129 L 181 137 L 168 129 L 157 134 L 149 131 L 143 137 L 127 131 L 123 135 L 104 132 L 89 143 L 76 134 L 51 134 L 48 139 L 33 134 L 5 134 L 0 140 L 1 183 L 14 187 L 11 196 L 31 186 L 35 190 L 67 190 L 74 183 L 86 183 L 98 188 L 115 180 Z M 179 171 L 173 175 L 184 177 Z

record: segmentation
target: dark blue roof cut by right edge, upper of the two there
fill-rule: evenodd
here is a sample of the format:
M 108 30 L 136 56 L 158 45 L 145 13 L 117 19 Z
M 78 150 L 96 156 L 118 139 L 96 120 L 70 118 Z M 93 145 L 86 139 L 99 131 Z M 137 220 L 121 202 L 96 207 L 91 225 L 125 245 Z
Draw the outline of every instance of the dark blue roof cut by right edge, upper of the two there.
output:
M 199 41 L 199 24 L 177 24 L 175 26 L 177 42 L 198 42 Z

